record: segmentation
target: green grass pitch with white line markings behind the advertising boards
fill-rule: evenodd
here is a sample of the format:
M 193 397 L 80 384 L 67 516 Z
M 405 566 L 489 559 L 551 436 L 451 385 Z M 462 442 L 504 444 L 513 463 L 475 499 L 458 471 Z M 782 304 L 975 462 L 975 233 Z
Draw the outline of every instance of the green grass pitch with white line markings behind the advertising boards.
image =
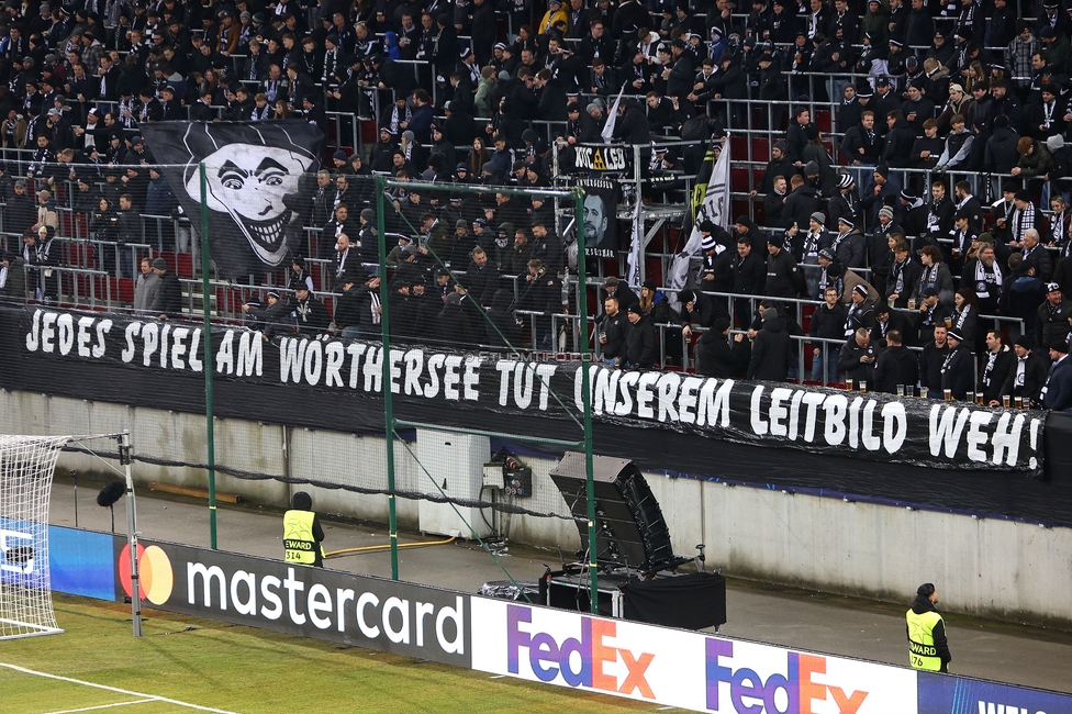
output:
M 657 709 L 155 610 L 144 611 L 145 636 L 135 639 L 129 606 L 54 602 L 64 634 L 0 643 L 2 714 Z

